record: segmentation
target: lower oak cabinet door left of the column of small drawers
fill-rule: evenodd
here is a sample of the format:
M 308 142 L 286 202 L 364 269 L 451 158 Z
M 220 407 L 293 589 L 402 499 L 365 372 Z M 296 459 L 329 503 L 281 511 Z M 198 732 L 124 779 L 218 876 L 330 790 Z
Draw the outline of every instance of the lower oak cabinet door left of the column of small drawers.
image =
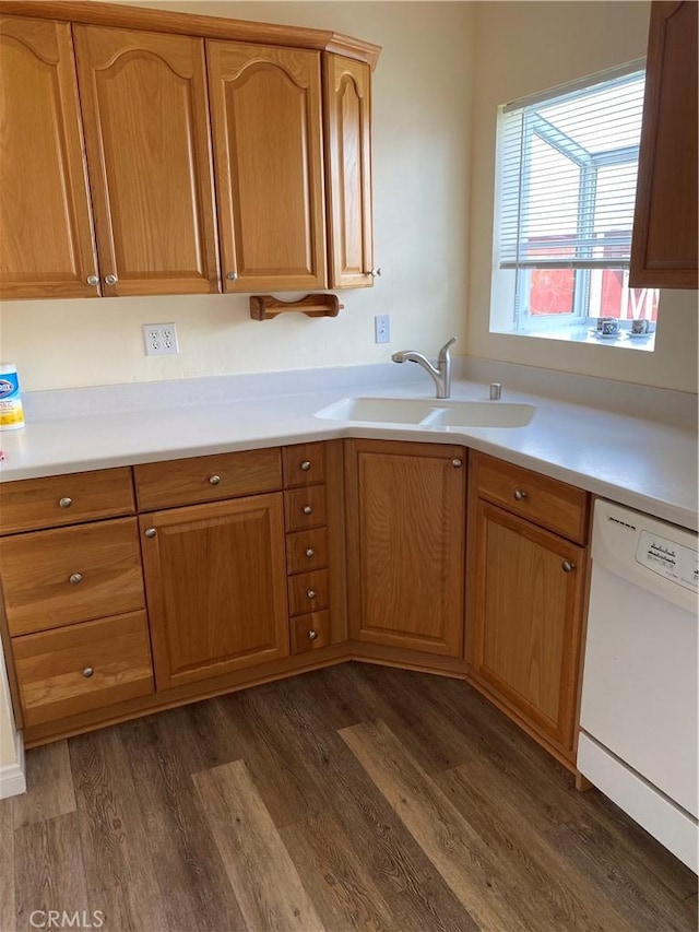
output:
M 288 654 L 281 493 L 140 523 L 158 689 Z

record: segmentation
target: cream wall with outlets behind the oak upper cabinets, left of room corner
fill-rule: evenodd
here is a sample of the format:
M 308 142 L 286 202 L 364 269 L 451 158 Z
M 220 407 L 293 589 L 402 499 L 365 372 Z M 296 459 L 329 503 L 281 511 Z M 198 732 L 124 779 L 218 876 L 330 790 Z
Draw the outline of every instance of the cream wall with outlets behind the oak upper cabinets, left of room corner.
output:
M 464 3 L 166 2 L 141 5 L 329 28 L 383 46 L 374 75 L 372 290 L 335 319 L 252 321 L 247 296 L 12 302 L 0 354 L 23 389 L 387 362 L 396 349 L 464 352 L 472 21 Z M 288 296 L 285 296 L 288 297 Z M 392 343 L 374 344 L 390 314 Z M 179 356 L 145 357 L 141 325 L 175 321 Z

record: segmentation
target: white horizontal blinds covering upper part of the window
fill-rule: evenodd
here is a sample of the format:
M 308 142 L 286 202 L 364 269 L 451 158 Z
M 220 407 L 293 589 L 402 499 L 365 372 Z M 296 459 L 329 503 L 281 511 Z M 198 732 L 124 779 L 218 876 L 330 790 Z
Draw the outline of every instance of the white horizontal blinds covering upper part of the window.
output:
M 636 62 L 502 108 L 501 269 L 628 268 L 643 85 Z

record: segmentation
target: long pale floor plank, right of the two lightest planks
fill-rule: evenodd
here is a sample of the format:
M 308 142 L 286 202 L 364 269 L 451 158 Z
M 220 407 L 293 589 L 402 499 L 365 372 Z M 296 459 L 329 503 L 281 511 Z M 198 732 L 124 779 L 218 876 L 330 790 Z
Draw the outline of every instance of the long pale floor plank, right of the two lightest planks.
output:
M 379 790 L 483 930 L 536 929 L 487 846 L 381 721 L 340 732 Z

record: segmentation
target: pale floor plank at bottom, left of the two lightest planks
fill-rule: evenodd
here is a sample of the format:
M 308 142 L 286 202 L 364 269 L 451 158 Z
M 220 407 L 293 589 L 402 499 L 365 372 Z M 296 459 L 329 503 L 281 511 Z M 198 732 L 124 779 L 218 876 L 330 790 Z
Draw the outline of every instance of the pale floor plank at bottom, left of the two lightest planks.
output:
M 245 763 L 223 764 L 192 780 L 248 929 L 322 932 Z

